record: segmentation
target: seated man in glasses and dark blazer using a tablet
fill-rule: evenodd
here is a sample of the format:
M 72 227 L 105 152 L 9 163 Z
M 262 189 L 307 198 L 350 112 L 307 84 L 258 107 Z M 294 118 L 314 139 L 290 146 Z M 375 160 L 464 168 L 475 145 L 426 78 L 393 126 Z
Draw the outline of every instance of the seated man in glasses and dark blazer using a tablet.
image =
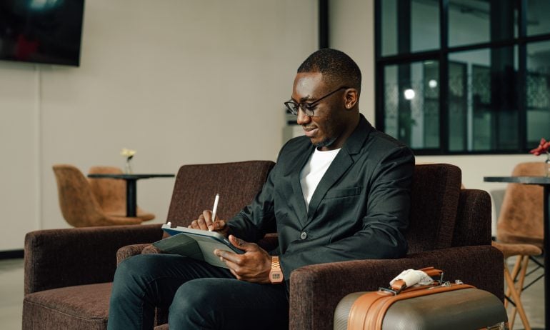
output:
M 294 269 L 403 256 L 414 156 L 359 114 L 360 91 L 349 56 L 311 54 L 285 102 L 305 136 L 283 146 L 260 193 L 233 219 L 204 211 L 190 225 L 229 236 L 245 253 L 214 251 L 229 270 L 168 254 L 127 259 L 116 271 L 109 329 L 151 329 L 155 306 L 169 306 L 171 330 L 286 329 Z M 254 242 L 273 231 L 279 248 L 270 254 Z

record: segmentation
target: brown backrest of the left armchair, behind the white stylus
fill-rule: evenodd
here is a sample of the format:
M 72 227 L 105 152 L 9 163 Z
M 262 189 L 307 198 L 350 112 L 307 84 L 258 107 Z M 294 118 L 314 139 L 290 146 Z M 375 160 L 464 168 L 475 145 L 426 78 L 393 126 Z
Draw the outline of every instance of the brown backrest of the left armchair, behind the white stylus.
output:
M 220 195 L 217 214 L 230 219 L 260 191 L 274 166 L 273 161 L 239 161 L 184 165 L 178 171 L 167 221 L 188 226 Z

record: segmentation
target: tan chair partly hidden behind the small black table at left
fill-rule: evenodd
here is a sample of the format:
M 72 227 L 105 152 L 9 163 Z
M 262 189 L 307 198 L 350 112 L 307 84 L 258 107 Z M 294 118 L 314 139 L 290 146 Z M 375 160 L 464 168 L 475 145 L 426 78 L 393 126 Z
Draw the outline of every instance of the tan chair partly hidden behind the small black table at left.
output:
M 122 170 L 114 166 L 92 166 L 89 174 L 122 174 Z M 101 209 L 108 216 L 126 216 L 126 183 L 118 179 L 91 179 L 88 178 L 91 191 Z M 141 221 L 149 221 L 155 215 L 144 211 L 139 206 L 136 209 L 136 217 Z

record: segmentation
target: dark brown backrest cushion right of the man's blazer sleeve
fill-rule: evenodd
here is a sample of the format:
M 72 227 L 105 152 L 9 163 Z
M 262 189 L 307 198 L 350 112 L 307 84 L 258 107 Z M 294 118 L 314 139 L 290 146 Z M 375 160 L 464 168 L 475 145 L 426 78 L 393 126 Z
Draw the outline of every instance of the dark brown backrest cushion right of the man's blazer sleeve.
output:
M 451 164 L 415 166 L 406 233 L 409 253 L 451 246 L 461 179 L 461 170 Z

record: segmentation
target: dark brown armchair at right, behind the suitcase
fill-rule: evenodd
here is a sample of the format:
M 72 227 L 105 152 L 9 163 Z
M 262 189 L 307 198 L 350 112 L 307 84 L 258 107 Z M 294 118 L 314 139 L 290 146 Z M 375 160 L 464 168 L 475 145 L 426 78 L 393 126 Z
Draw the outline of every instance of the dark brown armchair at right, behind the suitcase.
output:
M 406 234 L 409 254 L 296 269 L 290 280 L 289 329 L 333 329 L 334 309 L 346 294 L 388 286 L 404 269 L 426 266 L 504 300 L 503 256 L 491 246 L 491 198 L 486 191 L 460 187 L 458 167 L 416 165 Z

